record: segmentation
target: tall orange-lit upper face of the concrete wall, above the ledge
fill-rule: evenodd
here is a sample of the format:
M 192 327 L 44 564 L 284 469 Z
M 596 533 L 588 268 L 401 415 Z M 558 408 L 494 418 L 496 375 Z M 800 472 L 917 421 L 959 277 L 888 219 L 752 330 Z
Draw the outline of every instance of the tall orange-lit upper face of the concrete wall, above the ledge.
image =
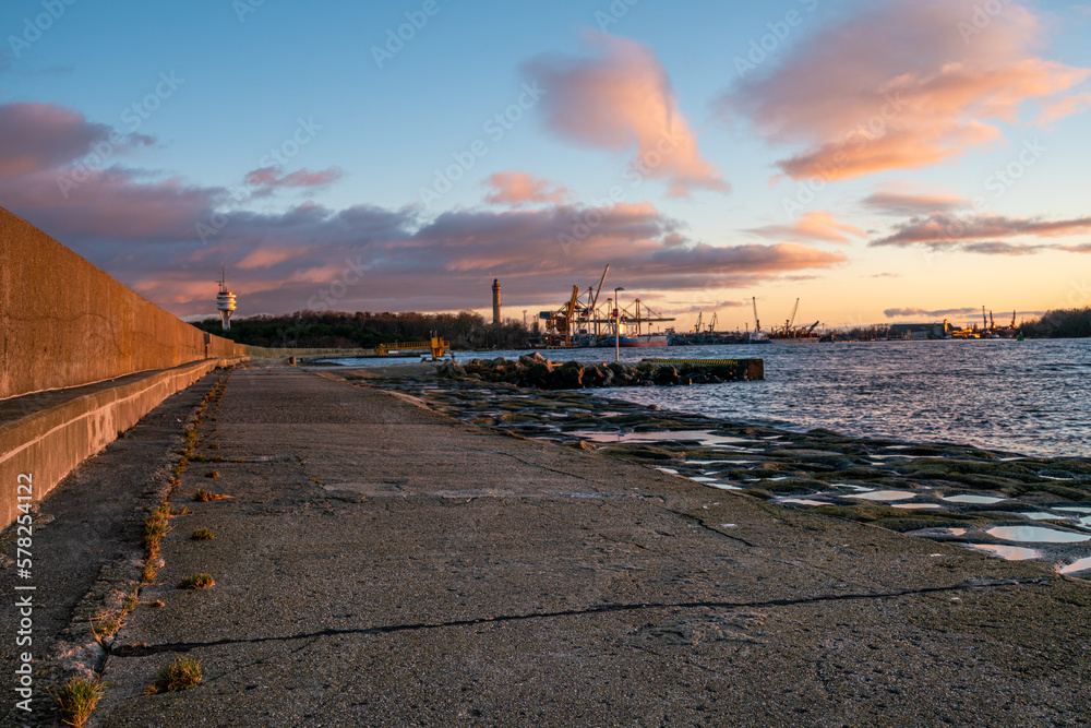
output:
M 215 296 L 209 287 L 209 301 Z M 244 354 L 0 207 L 0 399 Z

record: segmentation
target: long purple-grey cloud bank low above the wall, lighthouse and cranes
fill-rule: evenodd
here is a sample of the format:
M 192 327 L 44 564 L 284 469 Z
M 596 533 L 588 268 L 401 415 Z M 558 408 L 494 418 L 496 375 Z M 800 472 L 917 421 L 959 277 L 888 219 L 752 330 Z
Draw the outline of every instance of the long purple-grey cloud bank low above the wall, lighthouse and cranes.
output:
M 484 307 L 496 277 L 507 300 L 552 305 L 573 284 L 597 283 L 607 263 L 611 279 L 637 296 L 751 286 L 846 261 L 803 244 L 709 246 L 647 202 L 434 217 L 416 206 L 335 211 L 313 202 L 281 212 L 231 210 L 221 188 L 119 166 L 82 167 L 104 127 L 60 107 L 11 106 L 0 105 L 0 136 L 13 140 L 0 152 L 4 205 L 180 314 L 208 310 L 221 264 L 240 311 L 283 312 Z M 28 119 L 41 121 L 37 130 Z M 29 142 L 17 143 L 20 135 Z M 338 175 L 259 169 L 248 181 L 310 189 Z M 547 189 L 547 196 L 556 191 Z M 196 225 L 213 220 L 203 242 Z

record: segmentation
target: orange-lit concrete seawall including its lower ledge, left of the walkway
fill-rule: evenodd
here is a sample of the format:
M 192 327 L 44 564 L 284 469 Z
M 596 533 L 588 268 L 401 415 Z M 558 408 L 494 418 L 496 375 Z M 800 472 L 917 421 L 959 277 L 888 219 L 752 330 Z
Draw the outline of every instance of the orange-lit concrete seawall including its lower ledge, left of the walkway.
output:
M 244 346 L 212 336 L 0 208 L 0 527 Z M 25 490 L 23 491 L 25 494 Z

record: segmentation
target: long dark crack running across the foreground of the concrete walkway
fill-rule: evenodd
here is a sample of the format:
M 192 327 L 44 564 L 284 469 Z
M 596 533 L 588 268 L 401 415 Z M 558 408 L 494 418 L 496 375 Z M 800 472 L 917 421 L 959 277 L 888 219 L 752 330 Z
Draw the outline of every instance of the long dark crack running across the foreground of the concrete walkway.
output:
M 160 645 L 121 645 L 113 646 L 110 655 L 113 657 L 146 657 L 165 652 L 187 653 L 202 647 L 219 647 L 224 645 L 237 644 L 261 644 L 264 642 L 291 642 L 293 640 L 312 640 L 315 637 L 336 637 L 341 635 L 377 635 L 394 634 L 397 632 L 423 632 L 430 630 L 454 629 L 459 626 L 477 626 L 479 624 L 494 624 L 502 622 L 523 622 L 536 619 L 558 619 L 562 617 L 587 617 L 591 614 L 609 614 L 614 612 L 645 611 L 649 609 L 758 609 L 769 607 L 794 607 L 800 605 L 822 604 L 825 601 L 854 601 L 862 599 L 897 599 L 901 597 L 923 596 L 925 594 L 939 594 L 945 592 L 971 592 L 978 589 L 998 588 L 1004 586 L 1052 586 L 1053 583 L 1044 578 L 1005 578 L 997 581 L 961 582 L 949 586 L 927 586 L 918 589 L 899 589 L 894 592 L 872 592 L 872 593 L 850 593 L 850 594 L 826 594 L 815 597 L 800 597 L 794 599 L 766 599 L 764 601 L 647 601 L 640 604 L 608 604 L 597 607 L 586 607 L 584 609 L 563 609 L 559 611 L 529 612 L 526 614 L 500 614 L 496 617 L 478 617 L 475 619 L 458 619 L 446 622 L 419 622 L 413 624 L 386 624 L 382 626 L 355 628 L 350 630 L 336 630 L 326 628 L 315 632 L 304 634 L 293 634 L 288 636 L 252 637 L 249 640 L 212 640 L 209 642 L 172 642 Z

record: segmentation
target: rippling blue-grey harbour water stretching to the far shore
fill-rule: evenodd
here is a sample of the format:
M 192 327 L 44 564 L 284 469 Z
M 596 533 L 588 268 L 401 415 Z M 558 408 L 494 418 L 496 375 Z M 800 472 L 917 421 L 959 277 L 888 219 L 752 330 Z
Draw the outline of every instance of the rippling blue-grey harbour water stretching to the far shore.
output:
M 465 360 L 520 354 L 526 353 L 456 356 Z M 609 349 L 543 354 L 554 361 L 613 359 Z M 644 357 L 756 357 L 765 359 L 766 379 L 597 393 L 787 429 L 824 427 L 860 437 L 1091 457 L 1091 339 L 622 349 L 624 361 Z

